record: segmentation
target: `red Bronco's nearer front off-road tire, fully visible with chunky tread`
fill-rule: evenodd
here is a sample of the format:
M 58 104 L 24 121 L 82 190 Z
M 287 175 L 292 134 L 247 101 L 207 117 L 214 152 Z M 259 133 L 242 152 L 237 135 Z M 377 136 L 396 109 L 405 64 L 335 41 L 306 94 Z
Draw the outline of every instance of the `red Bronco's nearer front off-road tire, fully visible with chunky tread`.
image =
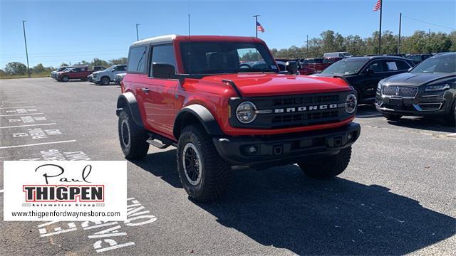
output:
M 186 175 L 184 158 L 187 147 L 192 146 L 197 150 L 197 157 L 200 159 L 199 183 L 190 183 L 190 174 Z M 190 150 L 190 149 L 186 149 Z M 193 149 L 192 149 L 193 150 Z M 187 159 L 185 159 L 187 163 Z M 192 124 L 182 129 L 177 144 L 177 171 L 185 191 L 190 198 L 199 202 L 211 202 L 220 198 L 227 190 L 231 166 L 224 161 L 215 149 L 212 138 L 206 133 L 200 124 Z M 195 182 L 195 181 L 193 181 Z

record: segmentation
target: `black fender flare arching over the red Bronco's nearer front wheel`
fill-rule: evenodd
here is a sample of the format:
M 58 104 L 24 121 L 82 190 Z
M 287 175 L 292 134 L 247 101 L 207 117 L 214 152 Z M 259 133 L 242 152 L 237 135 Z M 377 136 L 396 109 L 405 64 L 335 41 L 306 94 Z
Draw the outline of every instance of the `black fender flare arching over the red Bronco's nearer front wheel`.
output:
M 212 115 L 212 113 L 202 105 L 193 104 L 182 108 L 182 110 L 180 110 L 176 115 L 174 127 L 172 129 L 172 134 L 176 139 L 179 138 L 182 129 L 182 122 L 185 120 L 185 117 L 188 117 L 189 114 L 196 117 L 199 120 L 199 122 L 206 130 L 207 134 L 224 135 L 222 129 L 220 129 L 219 127 L 219 123 Z

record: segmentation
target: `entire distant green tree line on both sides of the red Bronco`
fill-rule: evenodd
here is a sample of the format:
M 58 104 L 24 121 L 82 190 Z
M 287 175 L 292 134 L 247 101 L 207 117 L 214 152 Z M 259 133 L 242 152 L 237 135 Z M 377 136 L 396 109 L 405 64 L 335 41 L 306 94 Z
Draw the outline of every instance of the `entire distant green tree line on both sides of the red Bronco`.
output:
M 393 35 L 392 31 L 382 33 L 381 54 L 396 53 L 398 49 L 398 35 Z M 352 55 L 368 55 L 378 53 L 378 31 L 374 32 L 368 38 L 361 38 L 356 35 L 342 36 L 331 30 L 323 31 L 318 38 L 309 39 L 309 50 L 306 42 L 303 46 L 291 46 L 290 48 L 276 49 L 272 48 L 271 52 L 274 58 L 321 58 L 323 53 L 348 51 Z M 447 51 L 456 51 L 456 31 L 451 33 L 415 31 L 412 36 L 403 36 L 400 38 L 400 53 L 440 53 Z M 256 60 L 257 53 L 249 52 L 242 56 L 241 60 Z M 89 68 L 94 66 L 104 66 L 125 64 L 127 58 L 116 58 L 112 60 L 101 60 L 93 58 L 92 61 L 82 60 L 78 63 L 61 63 L 61 66 L 88 65 Z M 45 75 L 55 70 L 54 67 L 44 67 L 39 63 L 30 69 L 31 74 Z M 11 62 L 5 65 L 4 70 L 0 69 L 0 77 L 26 75 L 27 67 L 24 63 Z

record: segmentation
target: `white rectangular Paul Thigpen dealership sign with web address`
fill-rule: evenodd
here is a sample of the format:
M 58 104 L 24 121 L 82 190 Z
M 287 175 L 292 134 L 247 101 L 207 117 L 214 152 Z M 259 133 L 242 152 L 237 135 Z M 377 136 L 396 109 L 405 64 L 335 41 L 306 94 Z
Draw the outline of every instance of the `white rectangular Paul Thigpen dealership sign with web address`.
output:
M 4 161 L 4 220 L 126 220 L 126 161 Z

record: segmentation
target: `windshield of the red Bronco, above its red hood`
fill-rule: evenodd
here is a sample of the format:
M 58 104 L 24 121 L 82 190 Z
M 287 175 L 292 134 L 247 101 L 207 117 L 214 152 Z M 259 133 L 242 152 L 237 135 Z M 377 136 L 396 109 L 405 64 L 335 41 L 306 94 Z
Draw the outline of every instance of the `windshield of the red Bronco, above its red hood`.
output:
M 187 74 L 279 71 L 268 48 L 261 43 L 182 42 L 180 52 Z

